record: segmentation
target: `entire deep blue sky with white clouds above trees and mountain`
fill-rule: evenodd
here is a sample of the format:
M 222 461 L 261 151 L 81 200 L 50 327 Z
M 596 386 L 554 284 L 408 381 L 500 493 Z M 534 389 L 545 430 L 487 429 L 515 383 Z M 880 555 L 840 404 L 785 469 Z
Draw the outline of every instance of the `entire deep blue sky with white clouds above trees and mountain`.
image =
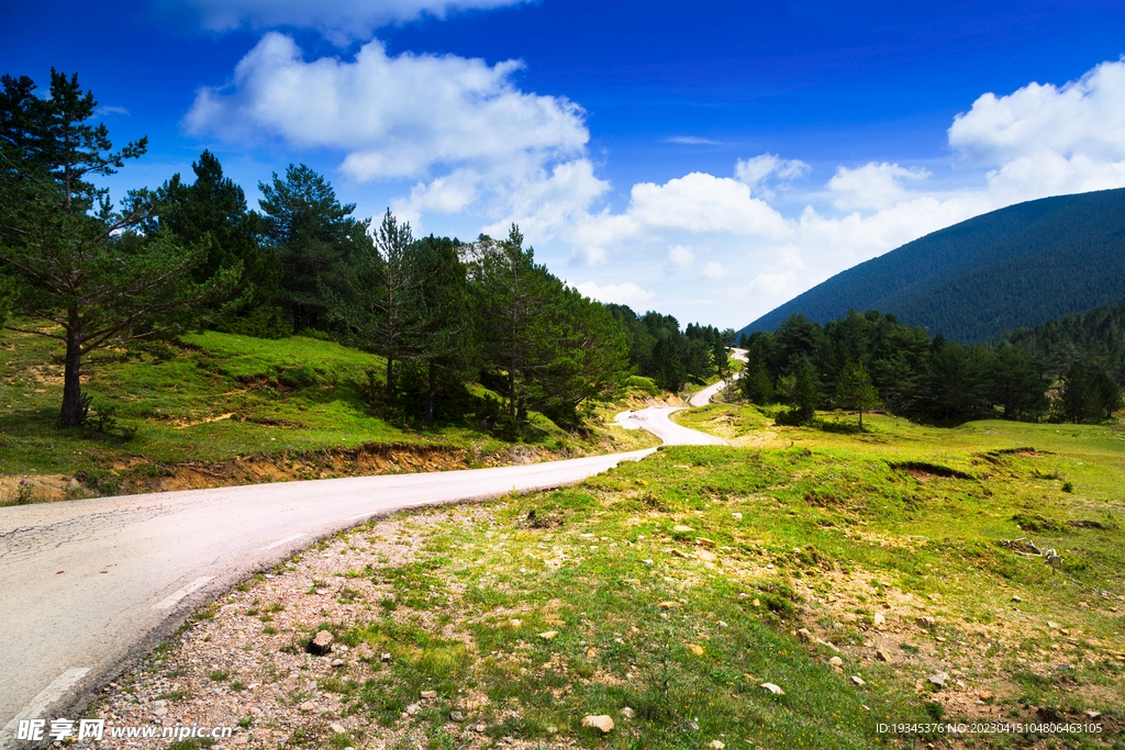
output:
M 6 3 L 0 71 L 78 72 L 115 196 L 202 148 L 357 213 L 521 225 L 584 292 L 741 327 L 1002 206 L 1125 186 L 1125 6 L 773 0 Z

